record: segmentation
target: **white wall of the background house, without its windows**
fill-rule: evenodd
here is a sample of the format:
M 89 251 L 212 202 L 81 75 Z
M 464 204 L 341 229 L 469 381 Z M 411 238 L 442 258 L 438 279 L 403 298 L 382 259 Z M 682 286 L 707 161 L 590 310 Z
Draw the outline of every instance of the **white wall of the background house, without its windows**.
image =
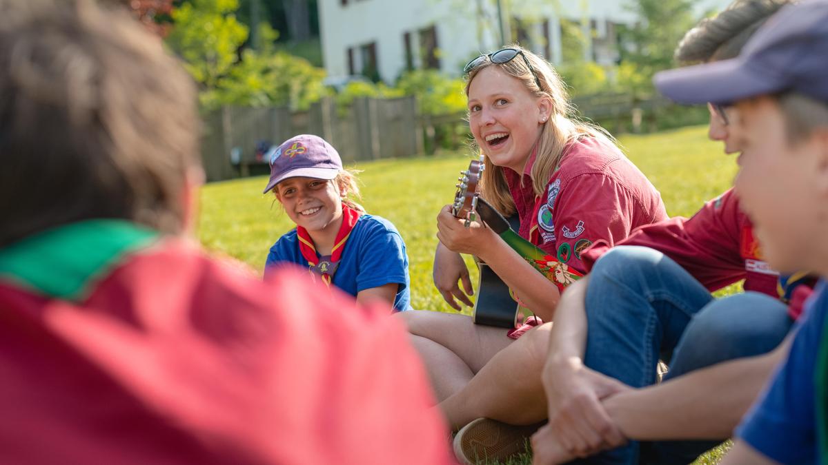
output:
M 416 31 L 436 26 L 437 48 L 440 52 L 440 70 L 447 74 L 460 74 L 469 58 L 482 51 L 493 50 L 500 45 L 496 0 L 320 0 L 320 35 L 325 70 L 330 77 L 349 74 L 347 50 L 354 48 L 354 70 L 362 70 L 359 47 L 376 43 L 378 73 L 391 83 L 406 67 L 406 50 L 403 34 L 412 34 L 414 65 L 419 62 L 419 37 Z M 700 0 L 696 13 L 710 8 L 722 9 L 729 0 Z M 633 24 L 637 18 L 625 6 L 624 0 L 503 0 L 511 4 L 511 11 L 504 15 L 537 18 L 532 35 L 537 36 L 530 44 L 532 50 L 544 51 L 542 20 L 549 20 L 548 36 L 551 50 L 547 57 L 553 63 L 561 63 L 561 28 L 559 18 L 585 23 L 589 27 L 594 20 L 597 36 L 606 35 L 607 23 Z M 477 8 L 481 7 L 483 21 L 478 20 Z M 586 20 L 582 22 L 582 20 Z M 591 37 L 591 31 L 586 34 Z M 599 62 L 614 60 L 614 50 L 585 50 L 585 58 Z

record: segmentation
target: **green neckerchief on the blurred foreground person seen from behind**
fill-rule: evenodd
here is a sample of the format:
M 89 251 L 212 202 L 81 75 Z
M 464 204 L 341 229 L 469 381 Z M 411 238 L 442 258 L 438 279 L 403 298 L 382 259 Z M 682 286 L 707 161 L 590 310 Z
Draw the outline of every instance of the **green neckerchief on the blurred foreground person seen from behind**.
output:
M 79 301 L 124 254 L 147 247 L 158 232 L 120 219 L 70 223 L 0 249 L 0 280 L 51 297 Z

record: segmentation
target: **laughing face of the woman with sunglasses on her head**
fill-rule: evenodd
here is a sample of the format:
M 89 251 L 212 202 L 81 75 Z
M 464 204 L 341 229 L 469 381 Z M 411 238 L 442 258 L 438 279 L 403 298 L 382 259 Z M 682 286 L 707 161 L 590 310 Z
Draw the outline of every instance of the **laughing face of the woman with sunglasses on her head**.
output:
M 469 127 L 494 165 L 521 173 L 542 124 L 551 113 L 548 98 L 536 98 L 522 82 L 490 65 L 469 84 Z

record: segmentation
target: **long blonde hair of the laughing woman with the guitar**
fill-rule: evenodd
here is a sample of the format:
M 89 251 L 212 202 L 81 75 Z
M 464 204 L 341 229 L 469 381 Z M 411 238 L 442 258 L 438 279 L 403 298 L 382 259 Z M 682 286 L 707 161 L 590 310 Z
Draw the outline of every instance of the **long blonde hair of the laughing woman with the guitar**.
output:
M 570 103 L 569 95 L 566 93 L 566 84 L 546 60 L 521 46 L 510 45 L 507 48 L 522 51 L 529 64 L 532 65 L 532 70 L 537 74 L 537 81 L 541 84 L 541 87 L 538 87 L 535 77 L 532 75 L 532 70 L 527 68 L 526 63 L 519 57 L 515 57 L 507 63 L 499 64 L 486 60 L 484 64 L 469 71 L 466 78 L 465 93 L 468 97 L 469 85 L 480 70 L 484 70 L 489 66 L 498 66 L 506 74 L 518 79 L 535 98 L 549 98 L 551 100 L 551 115 L 543 123 L 541 135 L 537 138 L 537 156 L 530 171 L 532 190 L 536 195 L 542 195 L 546 190 L 551 174 L 561 163 L 561 157 L 564 155 L 566 146 L 573 141 L 577 141 L 580 137 L 597 137 L 611 144 L 614 144 L 614 139 L 604 129 L 582 122 L 574 116 L 575 108 Z M 476 146 L 476 142 L 473 142 L 473 144 Z M 476 146 L 476 149 L 482 152 L 479 146 Z M 503 176 L 503 167 L 494 165 L 489 157 L 485 157 L 484 164 L 485 170 L 480 180 L 480 190 L 484 199 L 488 200 L 489 204 L 492 204 L 495 209 L 498 209 L 504 215 L 515 213 L 514 200 L 512 194 L 509 193 L 506 178 Z

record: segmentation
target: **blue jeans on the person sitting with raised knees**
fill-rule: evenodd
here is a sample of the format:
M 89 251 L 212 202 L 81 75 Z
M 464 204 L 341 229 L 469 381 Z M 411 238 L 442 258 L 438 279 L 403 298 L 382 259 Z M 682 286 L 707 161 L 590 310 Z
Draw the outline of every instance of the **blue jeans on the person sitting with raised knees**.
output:
M 776 348 L 792 321 L 779 300 L 756 292 L 714 299 L 675 261 L 647 247 L 615 247 L 590 273 L 584 362 L 642 387 Z M 669 406 L 666 406 L 669 408 Z M 724 440 L 725 438 L 722 438 Z M 690 463 L 721 441 L 630 442 L 588 463 Z

